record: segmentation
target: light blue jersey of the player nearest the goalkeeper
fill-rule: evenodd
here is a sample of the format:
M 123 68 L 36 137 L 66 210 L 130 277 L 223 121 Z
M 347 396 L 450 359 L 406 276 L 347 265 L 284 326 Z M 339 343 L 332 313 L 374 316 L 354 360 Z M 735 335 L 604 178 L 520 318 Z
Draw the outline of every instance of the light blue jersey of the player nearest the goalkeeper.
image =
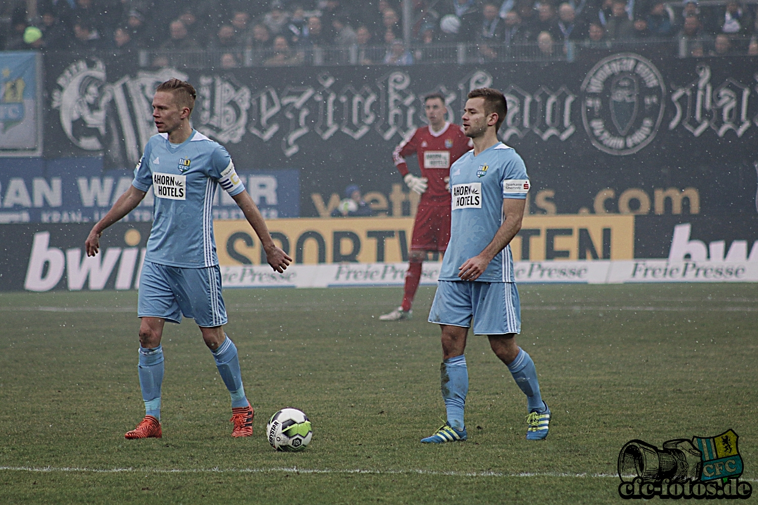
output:
M 522 158 L 498 142 L 478 156 L 468 151 L 450 167 L 450 242 L 439 279 L 459 281 L 458 267 L 484 251 L 503 224 L 503 198 L 526 198 L 529 178 Z M 477 282 L 515 282 L 510 245 L 490 261 Z

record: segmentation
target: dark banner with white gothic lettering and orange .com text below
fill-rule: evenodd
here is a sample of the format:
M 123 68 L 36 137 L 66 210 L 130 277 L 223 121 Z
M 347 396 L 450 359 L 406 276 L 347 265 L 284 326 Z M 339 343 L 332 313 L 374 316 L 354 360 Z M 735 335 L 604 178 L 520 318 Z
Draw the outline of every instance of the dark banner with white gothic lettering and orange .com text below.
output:
M 349 184 L 377 214 L 412 214 L 391 153 L 442 92 L 506 92 L 500 135 L 525 158 L 531 214 L 756 214 L 758 61 L 597 54 L 574 63 L 147 70 L 72 55 L 46 62 L 45 157 L 128 169 L 155 132 L 158 83 L 198 90 L 193 126 L 241 170 L 299 170 L 302 217 L 326 217 Z

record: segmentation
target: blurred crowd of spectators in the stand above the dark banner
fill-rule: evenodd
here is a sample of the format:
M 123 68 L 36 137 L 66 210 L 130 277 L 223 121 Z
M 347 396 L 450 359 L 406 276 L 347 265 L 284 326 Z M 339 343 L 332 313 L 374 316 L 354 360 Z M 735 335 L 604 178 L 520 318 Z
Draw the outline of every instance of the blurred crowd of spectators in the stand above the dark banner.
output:
M 5 50 L 208 50 L 222 67 L 250 55 L 307 63 L 319 48 L 354 48 L 353 63 L 412 64 L 460 42 L 484 60 L 515 45 L 549 56 L 568 43 L 662 40 L 678 42 L 680 56 L 758 55 L 758 4 L 741 0 L 412 0 L 410 47 L 399 0 L 38 0 L 36 17 L 25 0 L 0 5 Z

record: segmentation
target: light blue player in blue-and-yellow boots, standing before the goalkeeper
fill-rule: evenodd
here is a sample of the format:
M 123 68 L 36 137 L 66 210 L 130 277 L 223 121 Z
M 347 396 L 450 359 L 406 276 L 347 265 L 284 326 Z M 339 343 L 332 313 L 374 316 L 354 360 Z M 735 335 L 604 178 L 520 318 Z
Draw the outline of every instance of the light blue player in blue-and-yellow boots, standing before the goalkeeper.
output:
M 480 88 L 468 93 L 462 123 L 474 142 L 450 167 L 450 242 L 440 270 L 429 322 L 442 328 L 440 369 L 447 422 L 424 443 L 467 438 L 463 410 L 468 369 L 463 354 L 471 317 L 474 335 L 487 335 L 490 348 L 508 366 L 527 397 L 527 440 L 547 437 L 550 409 L 542 401 L 537 371 L 516 345 L 521 333 L 510 242 L 522 226 L 529 179 L 524 161 L 497 139 L 506 118 L 503 93 Z

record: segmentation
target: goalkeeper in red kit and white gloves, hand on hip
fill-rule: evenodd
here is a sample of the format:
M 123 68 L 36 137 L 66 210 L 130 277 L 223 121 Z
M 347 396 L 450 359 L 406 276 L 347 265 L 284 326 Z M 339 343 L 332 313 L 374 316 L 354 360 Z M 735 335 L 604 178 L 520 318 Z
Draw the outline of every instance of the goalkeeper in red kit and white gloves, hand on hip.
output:
M 379 316 L 384 321 L 410 319 L 413 297 L 421 281 L 421 263 L 427 251 L 444 253 L 450 239 L 450 165 L 472 148 L 471 139 L 460 126 L 445 120 L 447 108 L 440 93 L 424 97 L 424 111 L 429 126 L 422 126 L 400 142 L 393 152 L 393 161 L 411 191 L 421 195 L 411 239 L 410 265 L 406 273 L 402 305 Z M 421 177 L 408 170 L 405 157 L 416 154 Z

